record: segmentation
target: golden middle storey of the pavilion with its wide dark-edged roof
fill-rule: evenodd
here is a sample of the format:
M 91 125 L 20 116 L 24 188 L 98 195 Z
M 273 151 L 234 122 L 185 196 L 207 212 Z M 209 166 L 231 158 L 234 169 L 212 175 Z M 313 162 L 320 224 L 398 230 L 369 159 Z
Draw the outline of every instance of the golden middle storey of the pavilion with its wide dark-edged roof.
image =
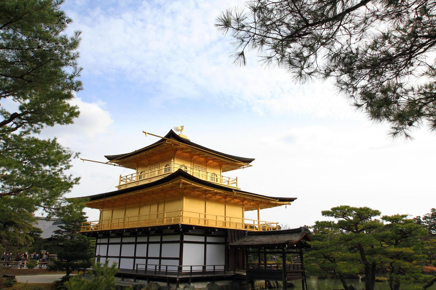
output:
M 259 210 L 296 200 L 232 189 L 180 169 L 159 180 L 86 198 L 86 206 L 99 209 L 100 218 L 83 223 L 82 232 L 171 224 L 277 230 L 278 223 L 260 220 Z M 247 210 L 257 210 L 258 219 L 246 219 Z

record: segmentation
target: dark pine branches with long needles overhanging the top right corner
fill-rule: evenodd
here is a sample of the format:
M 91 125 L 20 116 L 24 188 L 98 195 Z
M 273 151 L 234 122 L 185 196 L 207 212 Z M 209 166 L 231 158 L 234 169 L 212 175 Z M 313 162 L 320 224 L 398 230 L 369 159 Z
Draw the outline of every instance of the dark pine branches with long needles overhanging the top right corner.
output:
M 255 50 L 295 80 L 330 79 L 393 137 L 436 131 L 436 2 L 254 0 L 216 26 L 230 32 L 235 63 Z

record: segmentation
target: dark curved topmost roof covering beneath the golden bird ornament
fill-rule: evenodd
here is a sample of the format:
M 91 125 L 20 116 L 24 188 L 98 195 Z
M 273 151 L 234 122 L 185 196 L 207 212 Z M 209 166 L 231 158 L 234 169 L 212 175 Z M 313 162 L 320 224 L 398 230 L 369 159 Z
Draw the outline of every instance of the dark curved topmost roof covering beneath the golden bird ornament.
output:
M 229 160 L 236 160 L 236 161 L 239 161 L 239 162 L 242 162 L 242 163 L 251 163 L 251 162 L 253 162 L 255 160 L 254 158 L 245 158 L 245 157 L 234 156 L 234 155 L 222 153 L 222 152 L 219 152 L 219 151 L 216 151 L 216 150 L 213 150 L 213 149 L 210 149 L 210 148 L 198 145 L 198 144 L 196 144 L 194 142 L 191 142 L 190 140 L 187 140 L 185 138 L 180 137 L 173 130 L 170 130 L 170 132 L 168 132 L 167 135 L 165 135 L 164 137 L 167 138 L 167 139 L 174 139 L 174 140 L 176 140 L 176 141 L 178 141 L 180 143 L 184 143 L 184 144 L 187 144 L 187 145 L 192 146 L 192 147 L 196 147 L 199 150 L 204 150 L 204 151 L 207 151 L 207 152 L 210 152 L 210 153 L 214 153 L 214 154 L 216 154 L 216 155 L 218 155 L 220 157 L 224 157 L 224 158 L 227 158 Z M 153 144 L 151 144 L 149 146 L 143 147 L 143 148 L 141 148 L 139 150 L 136 150 L 136 151 L 133 151 L 133 152 L 130 152 L 130 153 L 124 153 L 124 154 L 105 155 L 105 157 L 109 161 L 115 160 L 115 159 L 120 158 L 120 157 L 123 157 L 123 158 L 132 157 L 132 156 L 134 156 L 136 154 L 142 153 L 143 151 L 153 149 L 154 147 L 159 146 L 163 142 L 166 142 L 166 140 L 162 138 L 159 141 L 157 141 L 157 142 L 155 142 L 155 143 L 153 143 Z

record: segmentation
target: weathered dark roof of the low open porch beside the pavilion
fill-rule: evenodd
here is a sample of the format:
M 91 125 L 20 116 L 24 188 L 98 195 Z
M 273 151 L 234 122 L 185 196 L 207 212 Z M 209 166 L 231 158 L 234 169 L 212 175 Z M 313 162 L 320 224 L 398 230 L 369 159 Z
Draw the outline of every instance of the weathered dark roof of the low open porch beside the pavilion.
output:
M 299 243 L 300 241 L 311 241 L 303 227 L 290 230 L 272 230 L 272 231 L 248 231 L 247 235 L 231 243 L 235 247 L 255 247 L 255 246 L 275 246 L 285 245 L 288 247 Z

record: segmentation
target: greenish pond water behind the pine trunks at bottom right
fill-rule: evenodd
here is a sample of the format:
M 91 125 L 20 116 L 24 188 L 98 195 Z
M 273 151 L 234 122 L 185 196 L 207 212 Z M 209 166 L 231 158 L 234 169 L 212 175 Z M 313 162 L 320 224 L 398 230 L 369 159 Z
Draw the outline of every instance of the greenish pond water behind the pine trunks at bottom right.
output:
M 347 279 L 348 284 L 352 284 L 357 289 L 364 289 L 365 282 L 358 279 Z M 294 290 L 301 290 L 301 282 L 293 281 L 296 285 L 296 288 L 291 288 Z M 332 289 L 343 289 L 342 283 L 339 279 L 318 279 L 317 277 L 311 276 L 307 279 L 307 287 L 308 290 L 332 290 Z M 401 289 L 407 290 L 407 285 L 403 285 Z M 436 290 L 436 285 L 433 285 L 428 290 Z M 289 288 L 288 288 L 289 290 Z M 375 284 L 375 290 L 390 290 L 389 284 L 387 282 L 377 282 Z

